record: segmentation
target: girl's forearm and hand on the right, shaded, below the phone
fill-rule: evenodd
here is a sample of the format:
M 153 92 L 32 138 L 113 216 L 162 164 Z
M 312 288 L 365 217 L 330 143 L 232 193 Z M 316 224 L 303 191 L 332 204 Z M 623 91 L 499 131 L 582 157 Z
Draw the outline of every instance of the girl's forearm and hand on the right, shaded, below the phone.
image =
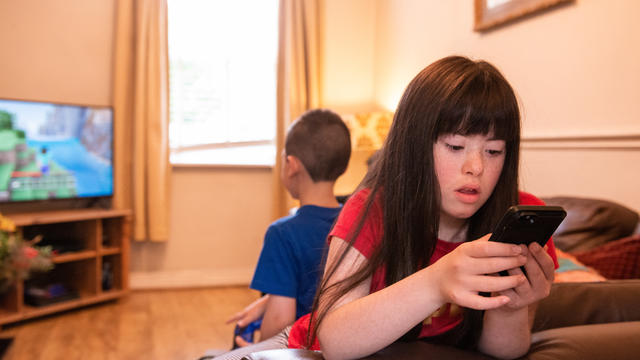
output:
M 538 243 L 523 250 L 527 253 L 525 270 L 529 281 L 502 293 L 510 298 L 507 305 L 485 312 L 480 351 L 498 358 L 516 358 L 529 351 L 531 326 L 538 301 L 549 295 L 554 279 L 554 264 Z M 522 274 L 520 268 L 510 274 Z

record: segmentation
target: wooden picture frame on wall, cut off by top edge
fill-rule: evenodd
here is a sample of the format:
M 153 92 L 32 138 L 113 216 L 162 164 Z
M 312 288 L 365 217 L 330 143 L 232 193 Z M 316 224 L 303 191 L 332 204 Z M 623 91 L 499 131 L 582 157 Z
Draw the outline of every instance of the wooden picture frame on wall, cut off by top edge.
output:
M 475 0 L 475 31 L 486 31 L 574 0 Z

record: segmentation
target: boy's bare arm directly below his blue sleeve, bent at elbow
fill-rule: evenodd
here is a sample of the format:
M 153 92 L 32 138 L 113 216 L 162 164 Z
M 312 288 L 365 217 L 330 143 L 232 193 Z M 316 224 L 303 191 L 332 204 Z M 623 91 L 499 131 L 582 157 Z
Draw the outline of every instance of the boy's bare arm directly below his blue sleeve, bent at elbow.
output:
M 285 327 L 296 321 L 295 298 L 274 294 L 269 294 L 268 297 L 264 317 L 262 318 L 262 326 L 260 327 L 260 340 L 266 340 L 277 335 Z

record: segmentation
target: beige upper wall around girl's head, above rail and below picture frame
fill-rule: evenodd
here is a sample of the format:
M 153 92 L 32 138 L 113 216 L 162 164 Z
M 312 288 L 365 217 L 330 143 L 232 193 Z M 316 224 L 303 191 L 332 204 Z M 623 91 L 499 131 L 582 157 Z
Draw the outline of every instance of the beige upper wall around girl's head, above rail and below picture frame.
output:
M 576 1 L 487 33 L 472 1 L 381 0 L 376 101 L 451 54 L 488 59 L 519 94 L 525 136 L 640 133 L 640 13 L 635 0 Z

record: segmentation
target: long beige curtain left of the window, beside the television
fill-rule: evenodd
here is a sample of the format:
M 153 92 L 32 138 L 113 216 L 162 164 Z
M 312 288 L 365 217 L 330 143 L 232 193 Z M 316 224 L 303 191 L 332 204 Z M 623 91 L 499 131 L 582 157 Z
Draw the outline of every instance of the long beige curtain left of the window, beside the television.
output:
M 117 0 L 113 207 L 133 210 L 135 240 L 169 236 L 166 0 Z

